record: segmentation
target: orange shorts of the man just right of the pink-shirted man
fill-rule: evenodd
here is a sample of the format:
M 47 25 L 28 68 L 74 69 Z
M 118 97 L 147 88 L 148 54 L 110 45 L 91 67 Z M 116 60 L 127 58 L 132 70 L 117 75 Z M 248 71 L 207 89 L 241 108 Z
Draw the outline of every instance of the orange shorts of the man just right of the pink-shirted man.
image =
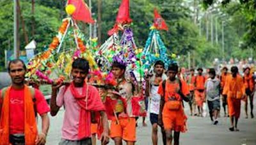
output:
M 135 118 L 120 118 L 117 121 L 111 121 L 110 137 L 122 137 L 124 141 L 136 141 L 136 119 Z

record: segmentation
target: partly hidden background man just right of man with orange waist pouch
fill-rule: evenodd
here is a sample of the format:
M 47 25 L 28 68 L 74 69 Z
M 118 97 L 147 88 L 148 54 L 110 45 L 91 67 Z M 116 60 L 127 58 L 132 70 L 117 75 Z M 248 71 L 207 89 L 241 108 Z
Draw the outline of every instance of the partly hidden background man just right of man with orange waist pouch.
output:
M 193 110 L 196 110 L 196 104 L 195 104 L 195 69 L 190 69 L 190 74 L 186 78 L 187 83 L 189 85 L 189 92 L 191 95 L 191 100 L 189 101 L 189 109 L 190 109 L 190 115 L 193 115 Z

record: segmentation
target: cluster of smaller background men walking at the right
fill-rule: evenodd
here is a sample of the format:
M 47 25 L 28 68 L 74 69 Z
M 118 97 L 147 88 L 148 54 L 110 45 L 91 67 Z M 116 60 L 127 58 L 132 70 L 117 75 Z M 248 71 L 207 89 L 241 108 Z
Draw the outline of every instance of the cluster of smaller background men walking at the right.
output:
M 250 67 L 244 68 L 243 75 L 239 74 L 236 66 L 231 67 L 231 73 L 228 72 L 227 67 L 223 67 L 220 76 L 216 74 L 214 69 L 208 69 L 208 74 L 205 76 L 202 75 L 203 69 L 199 68 L 197 71 L 198 74 L 195 76 L 195 70 L 191 69 L 186 80 L 193 98 L 192 102 L 189 103 L 191 115 L 193 115 L 193 111 L 196 111 L 193 109 L 194 104 L 198 107 L 198 114 L 202 116 L 202 103 L 207 102 L 209 116 L 216 125 L 218 116 L 220 116 L 220 98 L 222 98 L 224 116 L 230 117 L 230 131 L 238 130 L 237 121 L 240 116 L 241 100 L 244 101 L 245 118 L 248 118 L 248 100 L 250 100 L 250 115 L 251 118 L 254 118 L 255 78 Z M 228 106 L 228 113 L 226 106 Z

